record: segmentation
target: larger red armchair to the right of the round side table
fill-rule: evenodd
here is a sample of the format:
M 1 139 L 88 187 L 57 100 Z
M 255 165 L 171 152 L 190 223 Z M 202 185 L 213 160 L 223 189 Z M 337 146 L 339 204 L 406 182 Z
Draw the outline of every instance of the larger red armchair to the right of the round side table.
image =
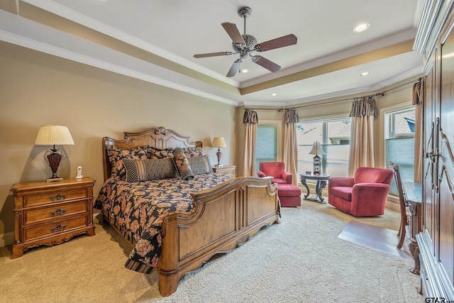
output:
M 328 203 L 353 216 L 380 216 L 394 175 L 392 170 L 358 167 L 355 177 L 331 177 Z

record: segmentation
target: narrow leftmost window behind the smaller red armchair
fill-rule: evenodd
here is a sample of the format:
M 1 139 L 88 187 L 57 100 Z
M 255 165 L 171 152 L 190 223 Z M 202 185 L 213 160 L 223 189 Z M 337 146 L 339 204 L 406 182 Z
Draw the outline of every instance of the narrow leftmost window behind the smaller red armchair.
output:
M 255 136 L 255 171 L 258 171 L 258 163 L 265 161 L 277 161 L 279 158 L 279 131 L 280 122 L 260 122 L 257 125 Z

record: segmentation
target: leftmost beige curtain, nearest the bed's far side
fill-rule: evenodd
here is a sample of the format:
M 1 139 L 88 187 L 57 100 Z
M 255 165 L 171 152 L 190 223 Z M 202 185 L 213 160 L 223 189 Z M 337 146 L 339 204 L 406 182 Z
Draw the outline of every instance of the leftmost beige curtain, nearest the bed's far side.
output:
M 245 124 L 244 167 L 245 176 L 255 175 L 255 138 L 257 135 L 258 115 L 254 109 L 245 109 L 243 116 Z

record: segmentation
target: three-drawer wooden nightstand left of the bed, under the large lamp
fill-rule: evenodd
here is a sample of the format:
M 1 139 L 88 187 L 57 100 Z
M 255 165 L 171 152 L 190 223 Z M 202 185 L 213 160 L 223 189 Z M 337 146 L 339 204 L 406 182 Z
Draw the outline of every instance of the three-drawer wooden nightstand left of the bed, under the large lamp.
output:
M 81 233 L 94 236 L 93 186 L 89 177 L 14 184 L 14 243 L 11 258 L 40 245 L 59 244 Z

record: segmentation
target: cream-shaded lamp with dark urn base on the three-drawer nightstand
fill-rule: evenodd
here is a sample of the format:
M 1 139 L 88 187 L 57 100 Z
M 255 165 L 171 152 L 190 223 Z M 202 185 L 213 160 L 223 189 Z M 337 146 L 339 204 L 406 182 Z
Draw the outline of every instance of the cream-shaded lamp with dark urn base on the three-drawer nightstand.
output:
M 70 130 L 66 126 L 45 125 L 41 126 L 36 136 L 35 145 L 53 145 L 54 147 L 46 151 L 44 158 L 52 170 L 52 177 L 47 182 L 63 180 L 57 177 L 57 170 L 60 167 L 60 161 L 65 156 L 61 150 L 55 148 L 55 145 L 74 145 Z

